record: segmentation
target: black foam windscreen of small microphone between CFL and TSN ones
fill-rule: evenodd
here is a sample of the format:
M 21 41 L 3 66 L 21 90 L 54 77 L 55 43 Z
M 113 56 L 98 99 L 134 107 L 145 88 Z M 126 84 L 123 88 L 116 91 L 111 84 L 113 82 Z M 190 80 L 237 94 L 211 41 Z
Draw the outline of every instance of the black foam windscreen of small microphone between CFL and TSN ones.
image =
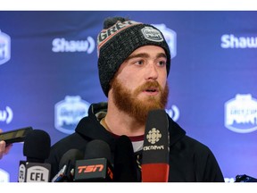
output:
M 62 167 L 67 164 L 69 164 L 70 169 L 74 168 L 76 160 L 81 160 L 83 158 L 84 155 L 81 151 L 79 151 L 79 149 L 70 149 L 64 155 L 62 155 L 59 163 L 59 170 L 62 170 Z

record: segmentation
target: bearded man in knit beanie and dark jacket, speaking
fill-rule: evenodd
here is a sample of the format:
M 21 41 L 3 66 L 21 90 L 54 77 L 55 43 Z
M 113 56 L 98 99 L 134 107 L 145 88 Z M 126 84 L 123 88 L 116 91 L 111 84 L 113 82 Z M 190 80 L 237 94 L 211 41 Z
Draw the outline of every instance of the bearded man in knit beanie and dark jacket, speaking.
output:
M 159 29 L 120 17 L 108 18 L 97 45 L 99 78 L 108 104 L 91 105 L 76 132 L 54 144 L 48 159 L 52 177 L 65 152 L 71 148 L 84 152 L 87 142 L 93 139 L 107 142 L 113 156 L 115 140 L 126 135 L 135 155 L 139 155 L 135 157 L 140 158 L 147 114 L 153 109 L 165 109 L 167 104 L 170 49 Z M 169 130 L 169 181 L 224 181 L 208 147 L 187 137 L 170 117 Z M 140 159 L 137 161 L 140 171 Z M 141 181 L 140 175 L 137 181 Z

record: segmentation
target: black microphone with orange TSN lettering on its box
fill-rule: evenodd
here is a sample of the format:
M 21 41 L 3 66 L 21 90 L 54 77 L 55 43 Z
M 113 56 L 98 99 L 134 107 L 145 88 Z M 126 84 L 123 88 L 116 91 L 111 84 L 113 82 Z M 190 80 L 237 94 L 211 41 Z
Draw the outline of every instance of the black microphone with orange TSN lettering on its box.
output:
M 111 148 L 106 142 L 99 139 L 88 142 L 84 160 L 76 161 L 74 181 L 113 181 L 113 168 L 110 160 Z

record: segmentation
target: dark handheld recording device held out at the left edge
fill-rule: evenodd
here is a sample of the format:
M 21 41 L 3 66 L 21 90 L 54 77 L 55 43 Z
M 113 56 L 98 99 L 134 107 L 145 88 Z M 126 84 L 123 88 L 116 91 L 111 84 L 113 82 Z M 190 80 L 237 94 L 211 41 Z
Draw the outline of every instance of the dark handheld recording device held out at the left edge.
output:
M 32 127 L 21 128 L 18 130 L 10 130 L 0 133 L 0 140 L 4 140 L 6 146 L 12 143 L 23 142 L 26 135 L 33 130 Z

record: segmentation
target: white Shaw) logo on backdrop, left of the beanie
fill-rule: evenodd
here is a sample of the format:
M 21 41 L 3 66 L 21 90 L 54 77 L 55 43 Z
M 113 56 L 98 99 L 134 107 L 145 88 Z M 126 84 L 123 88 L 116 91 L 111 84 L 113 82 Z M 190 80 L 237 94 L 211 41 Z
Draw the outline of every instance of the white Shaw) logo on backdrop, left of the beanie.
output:
M 65 38 L 54 38 L 52 51 L 59 52 L 87 52 L 93 53 L 95 50 L 95 40 L 87 37 L 87 40 L 66 40 Z

